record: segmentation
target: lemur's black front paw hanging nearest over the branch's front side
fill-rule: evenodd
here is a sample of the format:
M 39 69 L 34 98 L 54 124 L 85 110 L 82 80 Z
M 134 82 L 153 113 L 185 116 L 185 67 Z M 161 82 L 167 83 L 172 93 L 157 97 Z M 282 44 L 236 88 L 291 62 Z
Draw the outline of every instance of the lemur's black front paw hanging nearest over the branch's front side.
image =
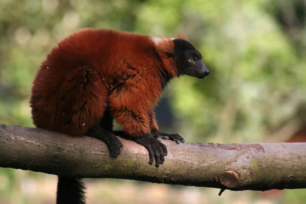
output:
M 135 137 L 134 141 L 143 145 L 149 152 L 149 164 L 152 165 L 155 159 L 155 166 L 158 168 L 163 164 L 167 156 L 167 147 L 158 141 L 151 134 L 144 134 L 141 137 Z

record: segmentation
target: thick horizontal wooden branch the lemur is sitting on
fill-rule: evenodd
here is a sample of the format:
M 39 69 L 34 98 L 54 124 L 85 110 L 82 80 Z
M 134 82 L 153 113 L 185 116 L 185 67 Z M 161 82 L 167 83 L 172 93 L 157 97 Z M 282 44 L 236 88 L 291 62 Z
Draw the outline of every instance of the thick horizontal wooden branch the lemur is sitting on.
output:
M 49 174 L 131 179 L 231 190 L 306 188 L 306 143 L 200 144 L 163 141 L 165 163 L 148 164 L 147 150 L 121 139 L 118 158 L 90 137 L 0 124 L 0 167 Z

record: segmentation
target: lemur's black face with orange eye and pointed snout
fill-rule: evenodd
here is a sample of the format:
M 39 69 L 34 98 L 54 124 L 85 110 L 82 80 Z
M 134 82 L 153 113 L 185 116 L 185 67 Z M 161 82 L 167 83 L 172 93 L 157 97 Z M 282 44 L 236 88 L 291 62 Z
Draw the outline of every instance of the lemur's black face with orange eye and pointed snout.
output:
M 200 52 L 186 40 L 177 38 L 173 42 L 174 57 L 179 74 L 186 74 L 199 79 L 207 77 L 209 70 L 202 62 Z

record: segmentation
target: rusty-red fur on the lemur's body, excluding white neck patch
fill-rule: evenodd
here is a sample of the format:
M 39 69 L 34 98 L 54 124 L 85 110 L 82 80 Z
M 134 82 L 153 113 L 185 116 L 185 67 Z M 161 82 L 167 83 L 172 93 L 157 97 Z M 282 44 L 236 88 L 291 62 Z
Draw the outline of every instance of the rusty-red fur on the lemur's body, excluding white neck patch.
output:
M 152 109 L 162 93 L 161 75 L 177 77 L 167 55 L 173 48 L 169 38 L 156 45 L 150 36 L 113 30 L 71 34 L 37 72 L 30 100 L 34 124 L 82 135 L 99 126 L 109 107 L 130 136 L 158 129 Z

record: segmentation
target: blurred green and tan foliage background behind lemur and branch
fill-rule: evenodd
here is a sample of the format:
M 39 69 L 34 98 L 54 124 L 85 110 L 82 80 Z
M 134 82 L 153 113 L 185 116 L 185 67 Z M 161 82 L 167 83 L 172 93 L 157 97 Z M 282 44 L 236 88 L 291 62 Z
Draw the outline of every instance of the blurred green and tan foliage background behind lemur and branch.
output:
M 157 108 L 162 131 L 188 142 L 306 141 L 306 1 L 2 0 L 0 123 L 33 127 L 32 80 L 50 48 L 81 28 L 187 36 L 211 74 L 174 79 Z M 1 155 L 1 150 L 0 150 Z M 0 203 L 55 203 L 57 177 L 0 168 Z M 93 203 L 305 203 L 267 192 L 88 179 Z

